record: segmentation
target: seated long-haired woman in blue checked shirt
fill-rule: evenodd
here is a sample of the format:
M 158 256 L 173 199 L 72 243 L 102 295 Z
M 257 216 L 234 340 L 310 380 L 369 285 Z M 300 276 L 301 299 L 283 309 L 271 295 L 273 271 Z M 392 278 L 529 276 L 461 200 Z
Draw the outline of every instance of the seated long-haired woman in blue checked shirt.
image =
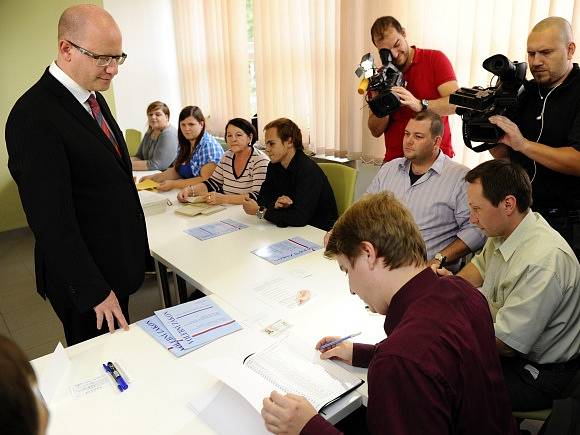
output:
M 179 151 L 173 166 L 141 178 L 157 181 L 157 190 L 183 189 L 208 180 L 224 154 L 219 142 L 205 131 L 205 117 L 197 106 L 187 106 L 179 114 L 177 139 Z

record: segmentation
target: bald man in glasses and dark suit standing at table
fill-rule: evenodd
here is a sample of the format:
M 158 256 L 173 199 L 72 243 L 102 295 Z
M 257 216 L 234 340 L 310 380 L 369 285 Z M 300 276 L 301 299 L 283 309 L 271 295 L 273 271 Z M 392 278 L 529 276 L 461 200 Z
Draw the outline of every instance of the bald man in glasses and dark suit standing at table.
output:
M 143 210 L 123 134 L 99 93 L 126 58 L 121 45 L 105 10 L 66 9 L 57 60 L 6 123 L 8 167 L 36 239 L 37 290 L 69 346 L 115 323 L 128 329 L 129 295 L 144 278 Z

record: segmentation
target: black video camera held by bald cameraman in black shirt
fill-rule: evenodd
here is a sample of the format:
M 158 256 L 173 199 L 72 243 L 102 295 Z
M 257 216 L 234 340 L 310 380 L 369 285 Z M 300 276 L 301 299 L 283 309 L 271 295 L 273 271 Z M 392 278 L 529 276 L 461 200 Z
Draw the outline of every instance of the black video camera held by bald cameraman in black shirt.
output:
M 511 62 L 503 54 L 483 61 L 483 68 L 498 77 L 489 88 L 461 88 L 449 96 L 449 103 L 459 106 L 456 113 L 463 120 L 463 142 L 475 152 L 487 151 L 497 145 L 503 131 L 489 122 L 493 115 L 513 115 L 526 79 L 526 62 Z M 484 142 L 473 146 L 471 141 Z

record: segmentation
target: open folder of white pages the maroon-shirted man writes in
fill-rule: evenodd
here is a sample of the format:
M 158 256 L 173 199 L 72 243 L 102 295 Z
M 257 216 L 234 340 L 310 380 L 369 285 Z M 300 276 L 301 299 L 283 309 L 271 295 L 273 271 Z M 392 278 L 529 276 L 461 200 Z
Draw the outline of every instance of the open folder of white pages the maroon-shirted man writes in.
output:
M 237 391 L 258 413 L 272 390 L 304 396 L 320 412 L 364 383 L 340 365 L 321 360 L 318 351 L 305 348 L 294 338 L 274 343 L 243 361 L 216 358 L 200 365 Z

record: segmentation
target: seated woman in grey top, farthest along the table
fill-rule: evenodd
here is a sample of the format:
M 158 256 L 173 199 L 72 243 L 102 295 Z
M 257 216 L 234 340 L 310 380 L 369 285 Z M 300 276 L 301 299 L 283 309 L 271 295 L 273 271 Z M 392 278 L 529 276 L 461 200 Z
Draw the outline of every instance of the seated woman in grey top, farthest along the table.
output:
M 164 171 L 177 157 L 177 129 L 169 124 L 169 107 L 154 101 L 147 107 L 149 129 L 131 157 L 134 171 Z

